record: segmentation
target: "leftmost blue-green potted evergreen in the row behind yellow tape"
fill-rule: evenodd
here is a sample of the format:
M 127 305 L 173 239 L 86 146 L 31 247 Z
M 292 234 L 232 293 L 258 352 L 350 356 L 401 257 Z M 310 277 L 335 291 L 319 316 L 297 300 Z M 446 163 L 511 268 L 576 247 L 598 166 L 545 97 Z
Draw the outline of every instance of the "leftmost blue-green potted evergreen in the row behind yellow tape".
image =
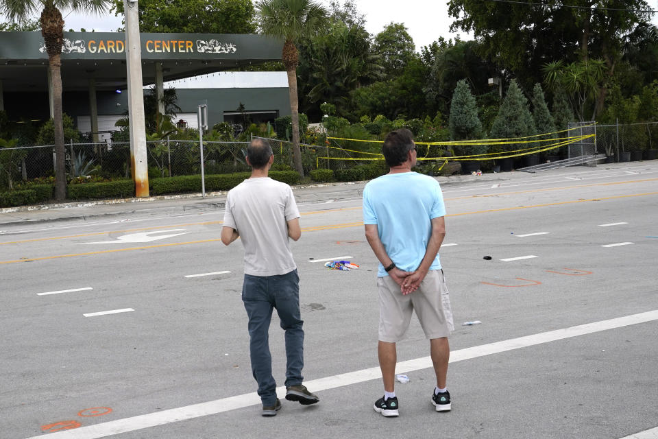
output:
M 454 88 L 448 128 L 451 141 L 482 138 L 482 123 L 478 118 L 478 106 L 466 80 L 460 80 Z M 466 145 L 456 146 L 454 149 L 456 154 L 461 156 L 483 154 L 486 147 L 484 145 Z

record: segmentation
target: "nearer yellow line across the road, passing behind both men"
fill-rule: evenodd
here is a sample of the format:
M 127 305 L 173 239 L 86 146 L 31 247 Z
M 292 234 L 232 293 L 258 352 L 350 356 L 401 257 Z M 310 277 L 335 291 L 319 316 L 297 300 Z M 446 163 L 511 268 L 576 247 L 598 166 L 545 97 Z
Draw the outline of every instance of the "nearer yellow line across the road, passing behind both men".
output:
M 631 193 L 631 194 L 627 194 L 627 195 L 616 195 L 616 196 L 612 196 L 612 197 L 588 198 L 586 200 L 561 201 L 561 202 L 546 203 L 546 204 L 533 204 L 531 206 L 515 206 L 515 207 L 504 207 L 504 208 L 501 208 L 501 209 L 487 209 L 485 211 L 450 213 L 446 216 L 447 217 L 458 217 L 458 216 L 463 216 L 463 215 L 475 215 L 475 214 L 478 214 L 478 213 L 515 211 L 515 210 L 520 210 L 520 209 L 533 209 L 535 207 L 548 207 L 548 206 L 559 206 L 561 204 L 574 204 L 574 203 L 584 203 L 584 202 L 603 201 L 603 200 L 616 200 L 616 199 L 619 199 L 619 198 L 642 197 L 642 196 L 647 196 L 647 195 L 658 195 L 658 192 Z M 351 222 L 351 223 L 344 223 L 344 224 L 328 224 L 327 226 L 316 226 L 316 227 L 302 228 L 302 231 L 312 232 L 314 230 L 331 230 L 331 229 L 335 229 L 335 228 L 348 228 L 348 227 L 359 227 L 359 226 L 363 226 L 363 222 Z M 25 259 L 18 259 L 18 260 L 15 260 L 15 261 L 0 261 L 0 265 L 5 264 L 5 263 L 16 263 L 16 262 L 27 262 L 27 261 L 42 261 L 44 259 L 58 259 L 58 258 L 67 258 L 67 257 L 75 257 L 75 256 L 87 256 L 87 255 L 90 255 L 90 254 L 127 252 L 127 251 L 130 251 L 130 250 L 144 250 L 144 249 L 147 249 L 147 248 L 186 246 L 188 244 L 202 244 L 202 243 L 205 243 L 205 242 L 215 242 L 215 241 L 221 241 L 221 239 L 219 239 L 219 238 L 204 239 L 202 241 L 175 242 L 175 243 L 171 243 L 171 244 L 157 244 L 157 245 L 154 245 L 154 246 L 131 247 L 131 248 L 115 248 L 115 249 L 112 249 L 112 250 L 101 250 L 101 251 L 97 251 L 97 252 L 59 254 L 59 255 L 56 255 L 56 256 L 25 258 Z

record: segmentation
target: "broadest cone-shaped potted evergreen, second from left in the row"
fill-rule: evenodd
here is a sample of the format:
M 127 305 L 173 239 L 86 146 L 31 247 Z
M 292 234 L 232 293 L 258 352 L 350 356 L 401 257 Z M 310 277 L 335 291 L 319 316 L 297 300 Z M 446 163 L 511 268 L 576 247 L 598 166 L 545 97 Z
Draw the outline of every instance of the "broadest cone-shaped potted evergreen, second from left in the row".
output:
M 491 125 L 493 139 L 513 139 L 515 137 L 526 137 L 536 134 L 535 121 L 528 108 L 528 99 L 523 95 L 516 80 L 511 80 L 507 94 L 502 99 L 498 116 Z M 513 143 L 502 145 L 503 151 L 524 149 L 526 143 Z

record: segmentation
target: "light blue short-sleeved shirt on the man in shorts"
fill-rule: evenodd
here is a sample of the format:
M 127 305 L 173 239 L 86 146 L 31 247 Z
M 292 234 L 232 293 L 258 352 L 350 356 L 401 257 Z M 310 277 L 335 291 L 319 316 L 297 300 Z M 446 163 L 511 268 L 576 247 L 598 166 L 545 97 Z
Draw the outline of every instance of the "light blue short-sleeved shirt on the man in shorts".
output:
M 414 271 L 432 234 L 432 218 L 446 215 L 439 182 L 417 172 L 386 174 L 363 189 L 363 224 L 376 224 L 379 238 L 395 265 Z M 440 270 L 439 254 L 430 270 Z M 379 264 L 377 276 L 389 274 Z

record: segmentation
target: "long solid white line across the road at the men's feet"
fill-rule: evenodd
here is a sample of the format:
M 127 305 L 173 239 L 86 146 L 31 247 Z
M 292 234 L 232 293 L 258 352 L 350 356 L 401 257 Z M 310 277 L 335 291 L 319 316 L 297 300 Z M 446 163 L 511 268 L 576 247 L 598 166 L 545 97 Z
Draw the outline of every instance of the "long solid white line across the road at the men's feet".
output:
M 503 340 L 502 342 L 495 342 L 483 344 L 480 346 L 473 346 L 471 348 L 460 349 L 450 353 L 450 363 L 456 361 L 463 361 L 467 359 L 474 359 L 484 357 L 485 355 L 493 355 L 497 353 L 514 351 L 519 348 L 528 346 L 536 346 L 538 344 L 545 344 L 548 342 L 555 342 L 557 340 L 565 340 L 580 335 L 587 335 L 607 331 L 609 329 L 617 329 L 628 327 L 633 324 L 640 324 L 646 322 L 653 322 L 658 320 L 658 309 L 648 311 L 645 313 L 633 314 L 631 316 L 624 316 L 620 318 L 613 318 L 610 320 L 602 320 L 600 322 L 592 322 L 581 324 L 575 327 L 568 327 L 564 329 L 557 329 L 555 331 L 548 331 L 537 333 L 533 335 L 526 335 L 525 337 L 513 338 L 511 340 Z M 400 361 L 395 368 L 397 373 L 413 372 L 414 370 L 427 369 L 432 367 L 431 357 L 421 357 L 411 359 L 409 361 Z M 304 384 L 308 388 L 313 389 L 314 392 L 321 390 L 329 390 L 334 388 L 343 387 L 345 385 L 352 385 L 370 381 L 372 379 L 381 379 L 382 373 L 379 367 L 356 370 L 340 375 L 332 375 L 320 379 L 307 381 Z M 286 392 L 285 387 L 276 389 L 280 398 L 283 398 Z M 187 405 L 186 407 L 178 407 L 170 410 L 162 410 L 149 414 L 133 416 L 132 418 L 123 418 L 111 420 L 107 423 L 99 423 L 96 425 L 88 425 L 77 429 L 58 431 L 51 434 L 42 434 L 39 436 L 32 436 L 28 439 L 97 439 L 112 436 L 113 434 L 126 433 L 128 431 L 136 431 L 149 427 L 156 427 L 157 425 L 165 425 L 175 423 L 180 420 L 188 420 L 199 418 L 201 416 L 208 416 L 212 414 L 219 414 L 229 412 L 230 410 L 241 409 L 252 405 L 260 405 L 260 397 L 256 392 L 246 393 L 236 396 L 230 396 L 224 399 L 216 399 L 215 401 L 208 401 L 206 403 L 199 403 L 194 405 Z M 633 438 L 633 436 L 629 436 Z M 648 439 L 652 436 L 639 436 L 642 439 Z

